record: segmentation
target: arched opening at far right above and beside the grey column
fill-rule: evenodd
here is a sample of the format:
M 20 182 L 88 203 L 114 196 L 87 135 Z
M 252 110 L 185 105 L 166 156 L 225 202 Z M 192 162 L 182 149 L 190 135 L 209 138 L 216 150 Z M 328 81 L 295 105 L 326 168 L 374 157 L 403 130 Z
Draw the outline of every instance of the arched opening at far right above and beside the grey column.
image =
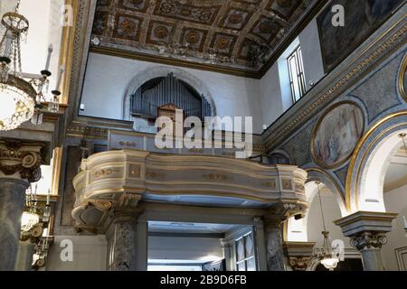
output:
M 362 171 L 361 209 L 398 214 L 382 247 L 383 266 L 389 271 L 407 270 L 406 133 L 401 129 L 383 137 L 370 152 Z

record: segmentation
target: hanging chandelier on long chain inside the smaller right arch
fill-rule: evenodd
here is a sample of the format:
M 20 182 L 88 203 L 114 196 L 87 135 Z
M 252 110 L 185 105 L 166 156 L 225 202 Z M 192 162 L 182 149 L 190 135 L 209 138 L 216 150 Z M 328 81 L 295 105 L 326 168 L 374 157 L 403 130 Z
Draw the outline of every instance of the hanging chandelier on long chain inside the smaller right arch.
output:
M 319 190 L 319 184 L 317 183 L 317 190 L 318 190 L 318 199 L 319 199 L 319 206 L 321 208 L 321 217 L 322 217 L 322 226 L 323 231 L 322 235 L 324 237 L 324 245 L 322 248 L 318 248 L 317 259 L 319 262 L 325 266 L 329 271 L 334 271 L 337 264 L 339 263 L 339 258 L 334 254 L 334 250 L 331 246 L 331 241 L 329 239 L 329 231 L 327 231 L 327 226 L 325 224 L 325 217 L 324 217 L 324 210 L 322 207 L 322 199 L 321 199 L 321 191 Z

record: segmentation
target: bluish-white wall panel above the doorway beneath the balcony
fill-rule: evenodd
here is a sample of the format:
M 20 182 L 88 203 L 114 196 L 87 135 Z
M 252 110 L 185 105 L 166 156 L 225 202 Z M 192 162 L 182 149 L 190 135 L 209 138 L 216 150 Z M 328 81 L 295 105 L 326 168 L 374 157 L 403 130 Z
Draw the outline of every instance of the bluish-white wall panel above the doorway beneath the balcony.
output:
M 222 258 L 217 238 L 149 237 L 148 259 L 202 260 L 205 256 Z

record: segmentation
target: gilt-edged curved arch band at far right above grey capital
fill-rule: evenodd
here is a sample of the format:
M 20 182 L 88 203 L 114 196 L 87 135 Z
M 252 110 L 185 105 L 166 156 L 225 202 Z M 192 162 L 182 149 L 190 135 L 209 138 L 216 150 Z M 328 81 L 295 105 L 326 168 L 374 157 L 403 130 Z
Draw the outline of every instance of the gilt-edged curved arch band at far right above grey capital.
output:
M 357 210 L 385 211 L 384 175 L 407 132 L 407 110 L 383 117 L 357 144 L 346 176 L 345 203 L 349 214 Z

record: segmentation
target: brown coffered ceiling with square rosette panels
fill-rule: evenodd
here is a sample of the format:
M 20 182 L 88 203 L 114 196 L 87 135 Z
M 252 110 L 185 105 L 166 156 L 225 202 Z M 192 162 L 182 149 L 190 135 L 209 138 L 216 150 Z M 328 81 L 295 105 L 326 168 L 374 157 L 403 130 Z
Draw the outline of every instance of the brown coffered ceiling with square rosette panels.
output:
M 314 0 L 99 0 L 92 50 L 259 72 Z M 174 62 L 174 63 L 172 63 Z

